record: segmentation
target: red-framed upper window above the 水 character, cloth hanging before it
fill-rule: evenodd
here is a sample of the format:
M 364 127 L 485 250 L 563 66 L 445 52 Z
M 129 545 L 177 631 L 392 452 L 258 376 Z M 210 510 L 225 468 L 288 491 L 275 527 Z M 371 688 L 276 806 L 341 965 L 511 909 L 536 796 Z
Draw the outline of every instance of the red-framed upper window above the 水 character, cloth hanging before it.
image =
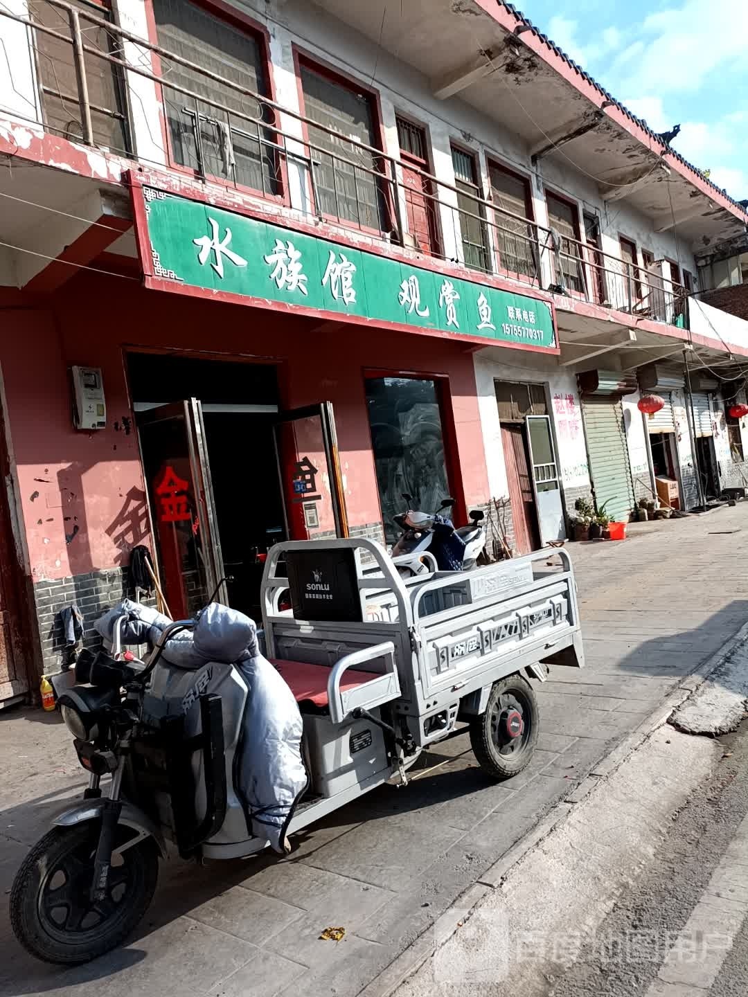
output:
M 232 83 L 266 95 L 264 51 L 258 38 L 213 17 L 189 0 L 153 0 L 159 45 Z M 211 176 L 225 176 L 263 193 L 280 193 L 277 157 L 271 148 L 272 108 L 240 94 L 197 69 L 161 57 L 161 72 L 201 100 L 164 84 L 172 156 Z

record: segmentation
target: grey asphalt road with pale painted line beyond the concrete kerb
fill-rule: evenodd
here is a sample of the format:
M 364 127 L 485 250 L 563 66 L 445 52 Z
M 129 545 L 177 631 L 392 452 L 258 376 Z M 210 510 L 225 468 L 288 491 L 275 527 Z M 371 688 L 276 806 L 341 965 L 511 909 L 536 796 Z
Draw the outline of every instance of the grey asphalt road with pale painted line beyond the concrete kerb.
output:
M 748 989 L 748 727 L 720 739 L 635 885 L 549 997 L 743 997 Z

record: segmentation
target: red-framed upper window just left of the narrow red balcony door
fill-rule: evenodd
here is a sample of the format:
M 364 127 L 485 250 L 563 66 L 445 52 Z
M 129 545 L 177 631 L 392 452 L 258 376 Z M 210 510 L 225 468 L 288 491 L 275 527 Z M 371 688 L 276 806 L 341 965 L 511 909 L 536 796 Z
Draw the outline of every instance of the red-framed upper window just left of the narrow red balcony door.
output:
M 358 145 L 378 147 L 371 96 L 305 63 L 300 71 L 306 117 L 334 133 L 308 126 L 318 209 L 361 228 L 386 231 L 382 161 Z

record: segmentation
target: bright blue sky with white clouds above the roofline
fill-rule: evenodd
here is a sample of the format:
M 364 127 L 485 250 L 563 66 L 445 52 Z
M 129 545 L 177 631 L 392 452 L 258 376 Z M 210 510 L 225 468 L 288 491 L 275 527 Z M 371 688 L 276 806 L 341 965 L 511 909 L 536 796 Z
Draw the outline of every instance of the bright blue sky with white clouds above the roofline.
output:
M 748 0 L 515 0 L 717 186 L 748 197 Z

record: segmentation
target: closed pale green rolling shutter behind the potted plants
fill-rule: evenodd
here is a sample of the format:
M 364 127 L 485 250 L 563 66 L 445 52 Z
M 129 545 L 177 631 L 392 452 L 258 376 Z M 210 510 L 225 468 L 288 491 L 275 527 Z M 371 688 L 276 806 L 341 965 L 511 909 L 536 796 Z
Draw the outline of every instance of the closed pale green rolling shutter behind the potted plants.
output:
M 607 502 L 605 511 L 611 519 L 626 519 L 634 502 L 620 401 L 582 398 L 581 412 L 597 506 Z

